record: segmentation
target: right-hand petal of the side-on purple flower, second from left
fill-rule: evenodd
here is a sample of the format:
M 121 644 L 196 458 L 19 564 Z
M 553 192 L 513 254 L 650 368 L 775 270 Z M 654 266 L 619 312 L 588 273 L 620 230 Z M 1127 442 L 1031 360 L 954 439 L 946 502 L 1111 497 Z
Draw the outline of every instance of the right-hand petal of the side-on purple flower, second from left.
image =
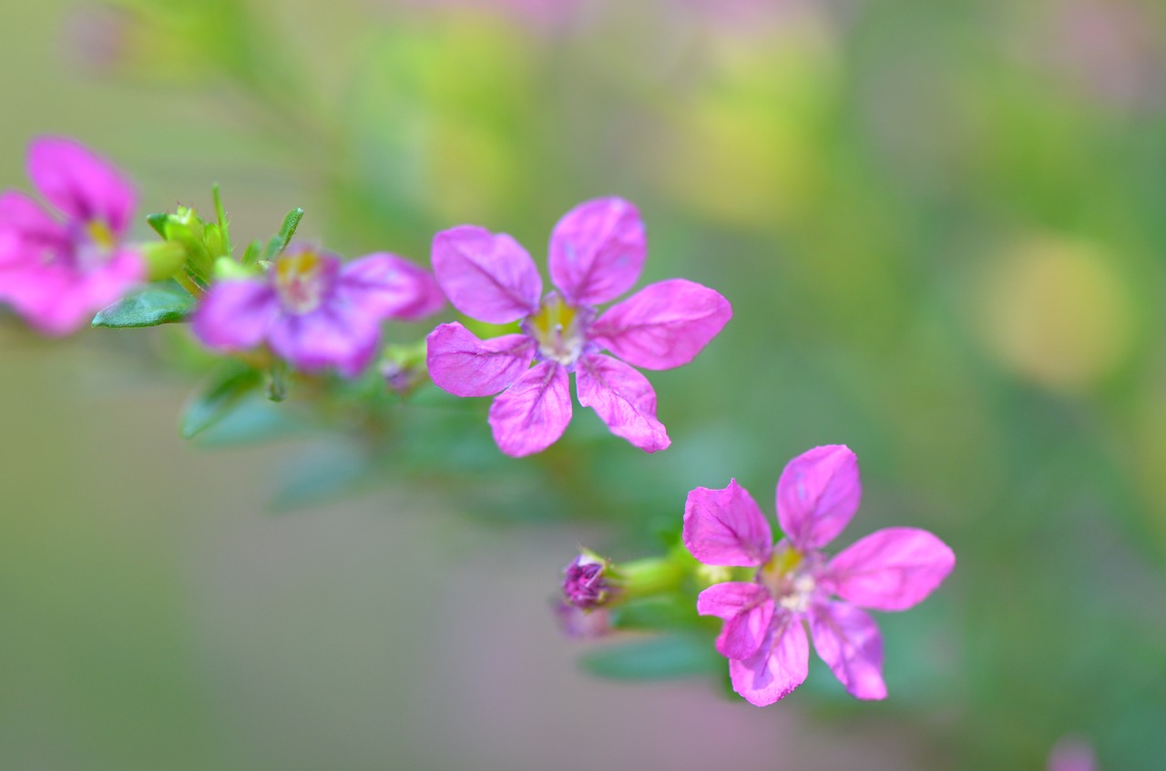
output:
M 445 305 L 433 274 L 385 252 L 345 263 L 339 287 L 346 298 L 378 318 L 415 320 Z

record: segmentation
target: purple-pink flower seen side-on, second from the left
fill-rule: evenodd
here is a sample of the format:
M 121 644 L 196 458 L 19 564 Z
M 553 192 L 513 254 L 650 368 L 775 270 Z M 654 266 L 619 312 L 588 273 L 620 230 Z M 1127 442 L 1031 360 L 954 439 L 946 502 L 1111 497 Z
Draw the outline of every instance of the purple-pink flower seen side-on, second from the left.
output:
M 293 245 L 266 275 L 216 282 L 192 318 L 222 351 L 266 342 L 301 370 L 335 367 L 354 377 L 375 356 L 380 324 L 417 319 L 445 304 L 434 277 L 392 254 L 340 259 Z

